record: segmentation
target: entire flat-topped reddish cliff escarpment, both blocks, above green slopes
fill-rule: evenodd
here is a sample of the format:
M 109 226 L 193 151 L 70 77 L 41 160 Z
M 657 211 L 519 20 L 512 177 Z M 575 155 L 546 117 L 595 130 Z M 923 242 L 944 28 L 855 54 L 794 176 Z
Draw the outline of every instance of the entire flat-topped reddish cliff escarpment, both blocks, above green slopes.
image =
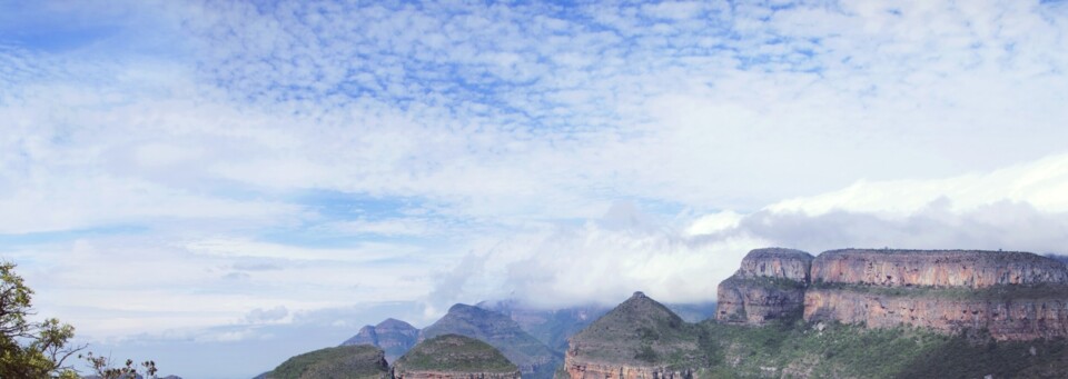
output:
M 805 321 L 869 328 L 986 331 L 998 340 L 1068 337 L 1068 268 L 1050 258 L 1001 251 L 833 250 L 811 260 L 807 279 L 799 280 L 795 270 L 781 269 L 782 258 L 761 251 L 746 256 L 742 269 L 720 283 L 718 320 L 763 325 L 800 315 Z M 798 259 L 801 255 L 793 253 Z

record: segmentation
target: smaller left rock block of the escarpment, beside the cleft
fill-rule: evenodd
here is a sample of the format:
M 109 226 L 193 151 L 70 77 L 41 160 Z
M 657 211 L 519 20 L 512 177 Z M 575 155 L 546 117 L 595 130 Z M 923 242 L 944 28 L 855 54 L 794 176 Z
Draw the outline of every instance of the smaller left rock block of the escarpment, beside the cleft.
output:
M 812 255 L 791 249 L 758 249 L 718 288 L 716 320 L 761 326 L 801 316 Z

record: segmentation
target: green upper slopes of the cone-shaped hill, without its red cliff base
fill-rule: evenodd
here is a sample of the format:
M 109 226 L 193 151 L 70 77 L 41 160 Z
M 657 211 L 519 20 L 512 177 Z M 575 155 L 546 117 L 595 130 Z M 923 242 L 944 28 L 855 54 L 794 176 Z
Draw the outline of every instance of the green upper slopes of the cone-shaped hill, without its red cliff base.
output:
M 571 347 L 583 360 L 627 366 L 701 366 L 702 330 L 663 305 L 635 292 L 586 329 Z

